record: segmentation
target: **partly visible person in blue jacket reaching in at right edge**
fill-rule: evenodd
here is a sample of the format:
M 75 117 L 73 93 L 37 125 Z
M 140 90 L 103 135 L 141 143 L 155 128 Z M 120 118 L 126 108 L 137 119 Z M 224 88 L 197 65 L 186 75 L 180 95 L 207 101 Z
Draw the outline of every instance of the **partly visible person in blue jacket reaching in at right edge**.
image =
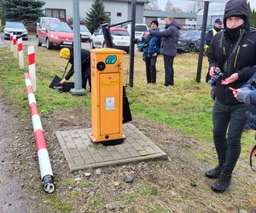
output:
M 247 104 L 247 124 L 251 129 L 256 130 L 256 67 L 253 77 L 240 89 L 235 89 L 233 95 L 237 101 Z

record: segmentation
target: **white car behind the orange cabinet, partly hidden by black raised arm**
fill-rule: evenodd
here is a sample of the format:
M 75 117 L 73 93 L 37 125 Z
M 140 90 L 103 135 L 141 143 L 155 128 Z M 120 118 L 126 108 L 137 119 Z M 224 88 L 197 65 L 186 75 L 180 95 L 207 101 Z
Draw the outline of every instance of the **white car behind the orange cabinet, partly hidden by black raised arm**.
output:
M 123 49 L 129 53 L 130 49 L 130 33 L 122 28 L 110 27 L 110 34 L 113 41 L 113 48 Z M 102 27 L 99 27 L 96 32 L 90 37 L 90 48 L 104 48 L 105 39 L 102 33 Z

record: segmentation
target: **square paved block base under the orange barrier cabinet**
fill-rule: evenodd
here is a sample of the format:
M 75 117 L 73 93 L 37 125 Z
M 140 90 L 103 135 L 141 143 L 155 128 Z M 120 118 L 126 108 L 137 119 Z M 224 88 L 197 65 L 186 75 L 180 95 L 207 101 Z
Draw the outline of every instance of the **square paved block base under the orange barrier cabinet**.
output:
M 167 159 L 166 153 L 133 124 L 124 124 L 126 138 L 123 143 L 117 145 L 92 143 L 90 132 L 90 128 L 55 132 L 71 171 L 130 164 L 153 158 Z

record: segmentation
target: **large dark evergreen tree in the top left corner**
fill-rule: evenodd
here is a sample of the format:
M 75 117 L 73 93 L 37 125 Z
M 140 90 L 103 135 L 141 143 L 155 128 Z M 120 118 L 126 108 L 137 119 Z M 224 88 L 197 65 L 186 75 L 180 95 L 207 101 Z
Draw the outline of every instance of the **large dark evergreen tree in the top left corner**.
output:
M 20 20 L 25 24 L 34 24 L 43 15 L 43 1 L 39 0 L 2 0 L 5 20 Z

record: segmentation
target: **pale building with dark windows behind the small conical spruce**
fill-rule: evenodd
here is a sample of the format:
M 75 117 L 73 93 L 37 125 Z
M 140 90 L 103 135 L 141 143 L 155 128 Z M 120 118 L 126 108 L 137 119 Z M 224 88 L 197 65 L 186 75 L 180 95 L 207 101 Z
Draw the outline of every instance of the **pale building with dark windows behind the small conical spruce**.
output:
M 73 17 L 73 0 L 44 0 L 44 13 L 49 17 L 67 21 Z M 92 0 L 79 1 L 80 19 L 84 20 L 90 10 Z M 105 12 L 111 18 L 111 24 L 131 20 L 131 0 L 104 0 Z M 143 7 L 148 0 L 137 0 L 136 22 L 143 23 Z

